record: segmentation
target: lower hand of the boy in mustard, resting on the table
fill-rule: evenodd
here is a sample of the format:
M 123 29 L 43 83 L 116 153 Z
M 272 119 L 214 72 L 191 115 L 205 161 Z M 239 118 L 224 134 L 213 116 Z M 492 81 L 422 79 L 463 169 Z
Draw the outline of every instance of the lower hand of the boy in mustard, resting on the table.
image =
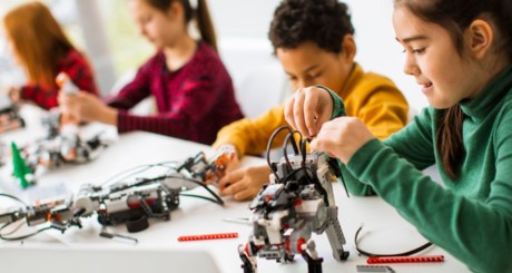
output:
M 239 168 L 228 172 L 219 182 L 220 195 L 232 195 L 236 201 L 254 198 L 268 183 L 270 169 L 267 165 Z

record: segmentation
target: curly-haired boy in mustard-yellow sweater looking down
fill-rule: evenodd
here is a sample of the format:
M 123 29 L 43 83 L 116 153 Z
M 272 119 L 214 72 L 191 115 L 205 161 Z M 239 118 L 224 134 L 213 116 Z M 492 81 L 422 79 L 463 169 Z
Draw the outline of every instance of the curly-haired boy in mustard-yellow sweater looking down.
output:
M 363 119 L 380 138 L 405 125 L 408 106 L 400 90 L 387 78 L 364 72 L 354 62 L 354 28 L 345 3 L 285 0 L 274 13 L 268 36 L 294 89 L 312 85 L 332 88 L 346 101 L 347 114 Z M 233 145 L 238 157 L 260 155 L 273 131 L 286 125 L 283 109 L 277 106 L 254 120 L 223 128 L 214 146 Z M 284 135 L 274 144 L 282 145 Z M 269 174 L 267 165 L 230 172 L 219 183 L 220 194 L 237 201 L 253 198 L 268 183 Z

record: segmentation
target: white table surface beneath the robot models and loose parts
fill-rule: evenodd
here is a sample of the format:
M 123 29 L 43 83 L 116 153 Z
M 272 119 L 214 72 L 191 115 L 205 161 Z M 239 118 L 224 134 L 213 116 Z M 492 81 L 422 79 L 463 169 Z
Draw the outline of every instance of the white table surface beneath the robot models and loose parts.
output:
M 23 113 L 22 113 L 23 114 Z M 28 140 L 33 138 L 40 130 L 30 123 L 26 129 L 4 134 L 3 142 Z M 112 128 L 108 128 L 112 129 Z M 165 137 L 150 133 L 129 133 L 118 137 L 96 160 L 82 165 L 69 165 L 52 169 L 43 174 L 36 188 L 43 193 L 46 188 L 62 188 L 73 193 L 81 184 L 101 184 L 114 175 L 136 166 L 155 164 L 167 160 L 183 160 L 199 152 L 211 155 L 209 146 L 185 142 L 181 139 Z M 256 157 L 245 157 L 243 165 L 265 164 L 265 160 Z M 14 193 L 27 198 L 27 192 L 14 186 L 9 177 L 8 167 L 0 169 L 0 189 Z M 148 174 L 149 175 L 149 174 Z M 205 194 L 201 188 L 194 189 L 195 194 Z M 361 247 L 376 253 L 396 253 L 412 250 L 426 242 L 417 231 L 404 221 L 396 211 L 380 197 L 347 197 L 343 187 L 334 184 L 334 194 L 338 206 L 338 218 L 346 237 L 345 250 L 351 252 L 346 262 L 336 262 L 331 252 L 326 234 L 313 235 L 318 253 L 324 257 L 324 272 L 357 272 L 356 265 L 366 264 L 366 257 L 360 256 L 354 246 L 354 234 L 364 224 Z M 2 203 L 0 203 L 2 204 Z M 0 206 L 1 207 L 1 206 Z M 83 220 L 83 227 L 70 228 L 65 234 L 58 231 L 48 231 L 31 238 L 20 242 L 0 241 L 0 250 L 14 247 L 45 247 L 51 248 L 138 248 L 146 250 L 201 250 L 211 254 L 220 272 L 243 272 L 240 260 L 237 254 L 237 245 L 245 244 L 252 231 L 249 226 L 227 223 L 227 218 L 247 218 L 252 215 L 248 202 L 235 202 L 225 198 L 225 205 L 219 206 L 208 201 L 181 196 L 180 205 L 171 212 L 168 222 L 150 221 L 146 231 L 128 234 L 126 227 L 114 226 L 109 230 L 114 233 L 127 234 L 136 237 L 137 245 L 124 244 L 112 240 L 106 240 L 98 234 L 101 226 L 95 217 Z M 178 242 L 180 235 L 211 234 L 237 232 L 239 237 L 229 240 Z M 443 263 L 411 263 L 388 264 L 395 272 L 469 272 L 464 264 L 452 257 L 440 247 L 433 246 L 422 255 L 444 255 Z M 296 256 L 293 263 L 280 264 L 275 261 L 258 259 L 259 272 L 307 272 L 306 262 Z

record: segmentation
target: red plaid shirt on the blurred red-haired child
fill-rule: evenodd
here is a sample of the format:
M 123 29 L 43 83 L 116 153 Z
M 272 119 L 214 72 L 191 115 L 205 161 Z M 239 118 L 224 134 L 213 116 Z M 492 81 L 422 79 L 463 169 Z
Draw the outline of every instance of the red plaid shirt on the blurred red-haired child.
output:
M 92 69 L 80 52 L 72 49 L 66 58 L 59 60 L 57 66 L 57 74 L 55 77 L 57 77 L 59 72 L 66 72 L 80 90 L 98 96 L 98 88 L 95 84 Z M 59 88 L 57 85 L 53 85 L 51 88 L 43 88 L 39 85 L 27 85 L 21 87 L 21 98 L 33 101 L 39 107 L 48 110 L 59 105 L 57 101 L 58 91 Z

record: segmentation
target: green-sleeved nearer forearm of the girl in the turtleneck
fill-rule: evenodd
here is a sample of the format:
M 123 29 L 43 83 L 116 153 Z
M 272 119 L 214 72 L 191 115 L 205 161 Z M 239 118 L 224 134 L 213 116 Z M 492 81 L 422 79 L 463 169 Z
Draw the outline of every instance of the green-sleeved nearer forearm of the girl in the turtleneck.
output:
M 512 243 L 509 208 L 441 187 L 376 139 L 354 155 L 347 169 L 371 185 L 427 240 L 470 269 L 503 272 L 512 266 L 509 259 L 496 255 Z

